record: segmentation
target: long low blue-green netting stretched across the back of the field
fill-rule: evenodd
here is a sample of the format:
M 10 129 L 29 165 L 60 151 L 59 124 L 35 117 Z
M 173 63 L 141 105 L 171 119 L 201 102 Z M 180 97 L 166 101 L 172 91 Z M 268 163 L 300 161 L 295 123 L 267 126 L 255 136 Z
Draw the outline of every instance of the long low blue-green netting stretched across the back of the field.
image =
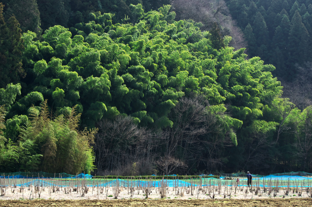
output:
M 193 186 L 197 186 L 200 182 L 200 179 L 193 179 Z M 300 177 L 300 176 L 267 176 L 265 178 L 256 178 L 253 179 L 253 185 L 255 185 L 259 181 L 259 187 L 269 187 L 269 185 L 278 185 L 279 187 L 310 187 L 312 184 L 312 178 Z M 278 182 L 276 182 L 278 181 Z M 191 180 L 137 180 L 137 179 L 114 179 L 109 180 L 107 182 L 106 179 L 16 179 L 11 181 L 6 181 L 5 185 L 12 185 L 12 183 L 16 182 L 17 186 L 101 186 L 101 187 L 111 187 L 111 186 L 124 186 L 124 187 L 144 187 L 144 186 L 152 186 L 159 187 L 164 184 L 168 187 L 175 186 L 191 186 Z M 118 182 L 118 183 L 117 183 Z M 194 184 L 196 183 L 196 184 Z M 222 180 L 216 178 L 205 178 L 201 179 L 202 186 L 207 185 L 227 185 L 231 186 L 237 184 L 238 186 L 247 186 L 247 179 L 239 179 L 239 183 L 236 183 L 236 179 L 234 180 Z

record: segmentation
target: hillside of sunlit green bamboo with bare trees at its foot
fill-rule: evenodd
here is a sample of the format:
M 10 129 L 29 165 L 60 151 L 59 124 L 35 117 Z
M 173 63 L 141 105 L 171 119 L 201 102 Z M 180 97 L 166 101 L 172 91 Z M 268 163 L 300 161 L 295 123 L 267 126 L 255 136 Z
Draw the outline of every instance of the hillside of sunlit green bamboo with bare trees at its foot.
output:
M 312 169 L 311 106 L 237 48 L 227 9 L 196 22 L 183 1 L 4 2 L 0 171 Z

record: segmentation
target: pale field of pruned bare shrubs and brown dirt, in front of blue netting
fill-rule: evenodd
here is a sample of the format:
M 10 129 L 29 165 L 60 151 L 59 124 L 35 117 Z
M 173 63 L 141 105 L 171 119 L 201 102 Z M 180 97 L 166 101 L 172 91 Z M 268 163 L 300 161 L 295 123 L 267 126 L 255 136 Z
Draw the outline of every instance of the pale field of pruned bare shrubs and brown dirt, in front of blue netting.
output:
M 300 184 L 297 182 L 295 187 L 281 187 L 282 185 L 274 184 L 270 180 L 269 183 L 271 184 L 265 188 L 259 187 L 257 184 L 249 188 L 239 186 L 236 182 L 233 182 L 234 185 L 232 185 L 232 181 L 228 181 L 228 183 L 225 181 L 223 184 L 220 180 L 217 182 L 219 185 L 194 186 L 188 184 L 175 187 L 168 187 L 168 185 L 153 187 L 151 185 L 132 184 L 128 185 L 130 187 L 125 187 L 125 183 L 115 183 L 106 187 L 97 187 L 96 185 L 88 185 L 82 179 L 65 187 L 60 182 L 52 186 L 46 186 L 39 182 L 27 186 L 17 186 L 15 184 L 4 187 L 4 185 L 0 185 L 0 207 L 312 206 L 312 189 L 310 187 L 312 184 L 310 181 L 308 186 L 304 181 L 300 181 Z M 241 180 L 241 182 L 244 181 Z M 148 198 L 146 198 L 146 192 L 148 192 Z

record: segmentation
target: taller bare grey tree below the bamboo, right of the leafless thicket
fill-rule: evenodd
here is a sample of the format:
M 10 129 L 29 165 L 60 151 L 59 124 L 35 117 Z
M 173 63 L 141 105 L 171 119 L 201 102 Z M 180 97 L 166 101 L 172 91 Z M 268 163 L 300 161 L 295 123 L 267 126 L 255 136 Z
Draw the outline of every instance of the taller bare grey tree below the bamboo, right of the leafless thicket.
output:
M 222 165 L 222 150 L 233 145 L 229 132 L 222 129 L 222 116 L 210 111 L 204 96 L 180 98 L 169 114 L 173 127 L 165 129 L 163 136 L 165 156 L 183 160 L 188 174 L 199 165 L 206 170 Z

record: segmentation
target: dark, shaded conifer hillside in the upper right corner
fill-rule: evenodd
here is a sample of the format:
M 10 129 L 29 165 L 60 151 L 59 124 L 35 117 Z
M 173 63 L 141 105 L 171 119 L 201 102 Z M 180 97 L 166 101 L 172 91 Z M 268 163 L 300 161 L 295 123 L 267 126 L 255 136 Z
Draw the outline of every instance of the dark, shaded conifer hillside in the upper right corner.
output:
M 292 101 L 300 107 L 311 105 L 310 94 L 304 92 L 311 83 L 309 80 L 303 83 L 302 79 L 309 76 L 312 61 L 312 1 L 226 2 L 245 34 L 248 55 L 259 56 L 276 67 L 272 73 L 286 86 L 285 95 Z

